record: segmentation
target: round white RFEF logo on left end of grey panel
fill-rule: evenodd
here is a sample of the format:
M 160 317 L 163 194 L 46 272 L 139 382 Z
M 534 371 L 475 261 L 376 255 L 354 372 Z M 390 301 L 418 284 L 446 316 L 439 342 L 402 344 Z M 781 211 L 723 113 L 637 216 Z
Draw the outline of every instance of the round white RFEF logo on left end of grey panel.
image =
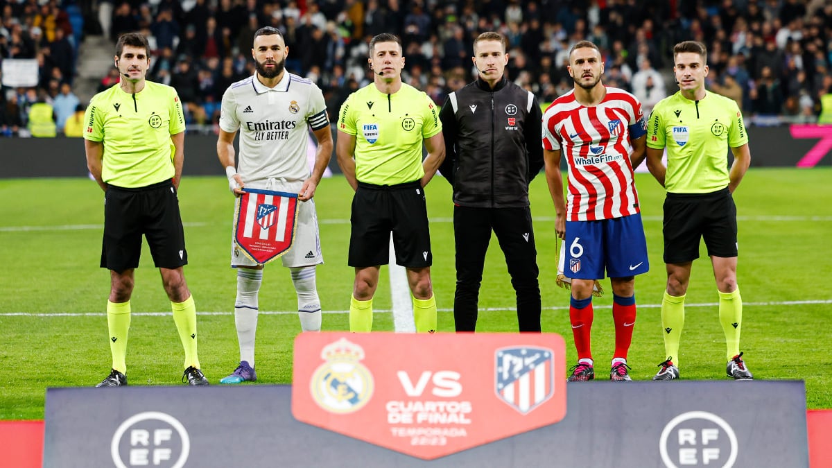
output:
M 118 468 L 181 468 L 188 461 L 191 439 L 175 417 L 146 411 L 127 418 L 112 436 L 112 462 Z

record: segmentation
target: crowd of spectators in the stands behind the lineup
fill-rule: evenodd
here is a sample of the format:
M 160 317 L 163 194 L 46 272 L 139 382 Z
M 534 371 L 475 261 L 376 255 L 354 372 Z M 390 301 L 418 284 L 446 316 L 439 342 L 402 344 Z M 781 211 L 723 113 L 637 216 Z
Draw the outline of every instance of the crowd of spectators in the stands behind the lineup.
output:
M 372 82 L 366 57 L 375 34 L 402 37 L 405 82 L 441 104 L 473 79 L 474 37 L 498 31 L 508 38 L 508 77 L 540 102 L 572 89 L 567 52 L 588 39 L 602 49 L 604 82 L 633 92 L 649 112 L 674 92 L 671 47 L 695 39 L 708 47 L 707 86 L 738 102 L 750 123 L 832 123 L 832 0 L 99 0 L 96 7 L 97 24 L 87 30 L 113 41 L 131 31 L 149 37 L 148 78 L 176 87 L 189 128 L 209 132 L 226 87 L 253 73 L 250 44 L 262 26 L 284 32 L 286 68 L 318 83 L 330 116 Z M 52 107 L 58 133 L 80 129 L 86 102 L 72 92 L 84 33 L 72 21 L 77 10 L 72 0 L 0 0 L 0 61 L 39 65 L 37 87 L 2 88 L 3 135 L 31 132 L 32 108 L 36 127 Z M 118 79 L 112 68 L 99 91 Z

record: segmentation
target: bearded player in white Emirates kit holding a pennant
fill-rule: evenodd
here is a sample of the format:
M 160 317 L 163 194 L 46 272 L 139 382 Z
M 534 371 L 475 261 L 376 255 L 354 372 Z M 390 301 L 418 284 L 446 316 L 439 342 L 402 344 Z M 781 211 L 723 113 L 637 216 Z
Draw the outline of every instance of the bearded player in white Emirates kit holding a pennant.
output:
M 324 258 L 312 197 L 332 155 L 332 133 L 323 93 L 310 80 L 285 70 L 288 53 L 280 30 L 261 27 L 255 32 L 251 55 L 257 72 L 225 91 L 216 150 L 238 208 L 239 196 L 246 189 L 298 194 L 295 241 L 280 259 L 291 271 L 302 329 L 319 331 L 321 313 L 315 266 L 323 263 Z M 318 141 L 311 174 L 306 159 L 307 127 L 311 127 Z M 238 130 L 240 157 L 235 169 L 233 144 Z M 220 383 L 236 384 L 257 380 L 255 331 L 263 265 L 245 256 L 232 239 L 231 266 L 237 268 L 234 314 L 240 366 Z

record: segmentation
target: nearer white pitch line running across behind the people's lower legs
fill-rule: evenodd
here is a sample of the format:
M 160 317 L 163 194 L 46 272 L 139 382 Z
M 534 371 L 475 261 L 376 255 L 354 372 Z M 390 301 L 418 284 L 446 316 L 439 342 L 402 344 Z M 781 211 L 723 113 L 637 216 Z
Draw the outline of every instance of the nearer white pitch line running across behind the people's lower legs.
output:
M 761 302 L 743 302 L 744 307 L 765 307 L 765 306 L 810 306 L 815 304 L 832 304 L 832 299 L 818 299 L 813 301 L 761 301 Z M 716 307 L 719 302 L 700 302 L 696 304 L 685 304 L 686 307 Z M 612 309 L 612 306 L 593 306 L 596 309 Z M 638 304 L 640 309 L 656 309 L 661 307 L 661 304 Z M 544 311 L 566 311 L 569 306 L 551 306 L 543 307 Z M 503 312 L 514 311 L 514 307 L 486 307 L 480 309 L 481 312 Z M 453 309 L 437 309 L 440 312 L 451 312 Z M 390 309 L 376 309 L 374 312 L 378 313 L 392 313 Z M 260 311 L 260 315 L 265 316 L 283 316 L 295 315 L 298 311 Z M 349 311 L 322 311 L 324 314 L 349 314 Z M 134 316 L 171 316 L 171 312 L 131 312 Z M 233 316 L 232 311 L 201 311 L 196 312 L 198 316 Z M 77 316 L 106 316 L 106 312 L 0 312 L 0 316 L 32 316 L 32 317 L 77 317 Z M 415 328 L 415 326 L 414 326 Z

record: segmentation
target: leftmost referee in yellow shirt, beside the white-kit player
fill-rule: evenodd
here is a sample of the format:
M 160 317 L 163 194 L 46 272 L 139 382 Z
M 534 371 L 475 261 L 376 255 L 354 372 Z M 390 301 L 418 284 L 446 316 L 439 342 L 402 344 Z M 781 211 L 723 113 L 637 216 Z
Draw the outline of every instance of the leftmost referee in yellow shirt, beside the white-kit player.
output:
M 196 353 L 196 307 L 182 272 L 188 263 L 176 198 L 185 157 L 182 105 L 175 89 L 145 80 L 151 63 L 146 37 L 119 37 L 115 62 L 121 82 L 92 97 L 84 117 L 87 167 L 104 191 L 101 266 L 110 270 L 106 316 L 112 369 L 97 386 L 127 385 L 130 296 L 142 235 L 185 347 L 182 381 L 208 385 Z

